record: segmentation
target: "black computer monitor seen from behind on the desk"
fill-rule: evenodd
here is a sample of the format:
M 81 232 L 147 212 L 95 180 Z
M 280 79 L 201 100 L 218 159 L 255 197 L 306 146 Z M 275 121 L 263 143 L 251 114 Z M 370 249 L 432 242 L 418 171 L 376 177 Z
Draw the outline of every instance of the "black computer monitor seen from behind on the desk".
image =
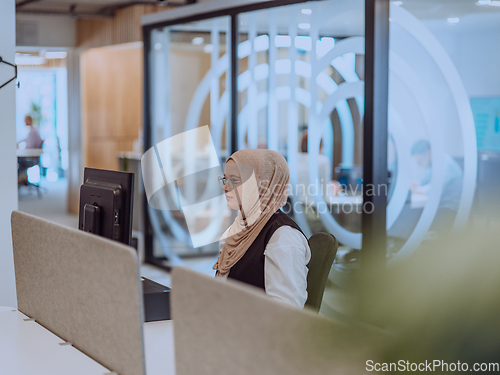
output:
M 134 174 L 85 168 L 78 228 L 130 245 Z

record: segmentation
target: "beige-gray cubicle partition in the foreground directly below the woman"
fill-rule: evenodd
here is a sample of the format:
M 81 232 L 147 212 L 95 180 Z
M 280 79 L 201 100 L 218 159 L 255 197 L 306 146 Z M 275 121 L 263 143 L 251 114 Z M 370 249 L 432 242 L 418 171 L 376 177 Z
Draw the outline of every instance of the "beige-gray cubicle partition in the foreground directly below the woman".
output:
M 361 374 L 386 341 L 238 282 L 182 267 L 172 282 L 177 375 Z

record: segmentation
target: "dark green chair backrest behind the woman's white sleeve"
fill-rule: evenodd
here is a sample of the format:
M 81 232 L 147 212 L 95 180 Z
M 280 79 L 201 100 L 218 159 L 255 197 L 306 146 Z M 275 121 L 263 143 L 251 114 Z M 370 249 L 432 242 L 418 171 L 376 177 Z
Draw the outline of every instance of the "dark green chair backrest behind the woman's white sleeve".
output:
M 319 311 L 339 243 L 333 234 L 316 233 L 309 238 L 309 247 L 311 260 L 307 265 L 309 273 L 307 274 L 306 306 Z

